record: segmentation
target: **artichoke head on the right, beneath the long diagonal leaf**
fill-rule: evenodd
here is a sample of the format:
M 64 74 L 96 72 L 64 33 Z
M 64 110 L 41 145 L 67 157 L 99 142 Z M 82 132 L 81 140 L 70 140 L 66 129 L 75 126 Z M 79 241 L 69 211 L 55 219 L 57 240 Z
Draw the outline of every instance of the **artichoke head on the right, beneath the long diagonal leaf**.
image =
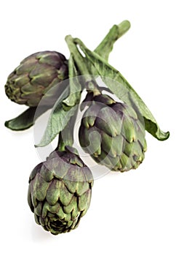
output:
M 96 162 L 110 170 L 135 169 L 146 151 L 143 119 L 130 106 L 100 94 L 84 113 L 79 142 Z

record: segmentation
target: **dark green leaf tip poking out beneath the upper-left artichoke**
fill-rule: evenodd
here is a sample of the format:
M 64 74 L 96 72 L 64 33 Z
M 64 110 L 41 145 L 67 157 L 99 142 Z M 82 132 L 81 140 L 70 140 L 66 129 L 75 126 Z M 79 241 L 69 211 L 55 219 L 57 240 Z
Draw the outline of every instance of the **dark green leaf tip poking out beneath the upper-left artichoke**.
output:
M 12 129 L 14 131 L 22 131 L 30 128 L 35 123 L 36 119 L 41 116 L 49 107 L 43 106 L 38 108 L 38 113 L 36 113 L 36 107 L 31 107 L 25 110 L 20 116 L 13 118 L 5 122 L 5 127 Z

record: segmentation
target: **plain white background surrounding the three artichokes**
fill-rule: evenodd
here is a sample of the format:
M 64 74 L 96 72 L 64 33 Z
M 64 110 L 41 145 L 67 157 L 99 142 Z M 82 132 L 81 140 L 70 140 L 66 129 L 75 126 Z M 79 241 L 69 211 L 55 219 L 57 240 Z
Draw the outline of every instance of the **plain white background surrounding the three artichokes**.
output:
M 1 255 L 179 255 L 178 1 L 1 1 Z M 57 50 L 68 58 L 72 34 L 94 49 L 115 23 L 130 31 L 109 62 L 132 84 L 170 138 L 146 135 L 138 170 L 95 181 L 92 203 L 76 230 L 52 236 L 36 225 L 26 200 L 28 176 L 41 162 L 33 128 L 12 132 L 4 121 L 24 106 L 4 94 L 7 76 L 26 56 Z M 99 167 L 100 168 L 100 167 Z

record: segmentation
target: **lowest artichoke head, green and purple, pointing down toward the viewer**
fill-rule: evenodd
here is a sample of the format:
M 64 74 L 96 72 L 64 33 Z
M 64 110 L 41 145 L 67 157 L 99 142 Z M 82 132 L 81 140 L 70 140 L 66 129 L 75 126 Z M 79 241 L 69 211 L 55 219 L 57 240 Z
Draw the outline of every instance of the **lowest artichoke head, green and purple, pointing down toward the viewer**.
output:
M 79 225 L 90 206 L 93 178 L 77 154 L 54 151 L 31 172 L 28 205 L 36 223 L 53 235 Z

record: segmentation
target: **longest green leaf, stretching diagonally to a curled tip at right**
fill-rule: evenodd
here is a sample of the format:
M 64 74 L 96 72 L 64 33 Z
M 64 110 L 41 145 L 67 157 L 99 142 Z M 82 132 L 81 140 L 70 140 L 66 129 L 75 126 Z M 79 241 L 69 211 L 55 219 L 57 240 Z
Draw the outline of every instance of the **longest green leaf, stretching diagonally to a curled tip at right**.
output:
M 136 107 L 144 118 L 146 130 L 158 140 L 167 140 L 170 133 L 162 132 L 162 130 L 159 128 L 159 125 L 156 123 L 156 120 L 151 111 L 148 109 L 143 100 L 138 96 L 137 92 L 132 89 L 132 86 L 130 86 L 122 74 L 114 67 L 111 67 L 111 65 L 108 64 L 108 62 L 101 58 L 97 53 L 90 51 L 83 44 L 83 42 L 81 42 L 80 39 L 76 39 L 76 43 L 79 44 L 81 50 L 87 56 L 87 59 L 89 59 L 92 65 L 94 65 L 98 70 L 98 74 L 102 76 L 106 86 L 108 86 L 108 88 L 125 103 L 132 105 L 131 99 L 133 102 L 135 102 Z M 111 83 L 111 80 L 114 80 L 117 83 Z

